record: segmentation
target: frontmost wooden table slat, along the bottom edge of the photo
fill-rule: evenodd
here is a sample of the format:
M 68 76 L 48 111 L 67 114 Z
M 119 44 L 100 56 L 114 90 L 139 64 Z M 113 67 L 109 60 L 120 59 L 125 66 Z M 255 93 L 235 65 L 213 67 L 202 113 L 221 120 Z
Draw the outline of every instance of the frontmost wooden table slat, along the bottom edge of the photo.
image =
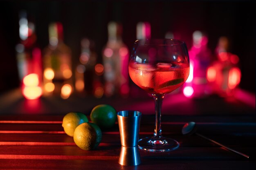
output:
M 252 161 L 166 161 L 151 158 L 142 158 L 139 166 L 121 166 L 116 160 L 0 160 L 1 170 L 254 170 L 255 166 Z

